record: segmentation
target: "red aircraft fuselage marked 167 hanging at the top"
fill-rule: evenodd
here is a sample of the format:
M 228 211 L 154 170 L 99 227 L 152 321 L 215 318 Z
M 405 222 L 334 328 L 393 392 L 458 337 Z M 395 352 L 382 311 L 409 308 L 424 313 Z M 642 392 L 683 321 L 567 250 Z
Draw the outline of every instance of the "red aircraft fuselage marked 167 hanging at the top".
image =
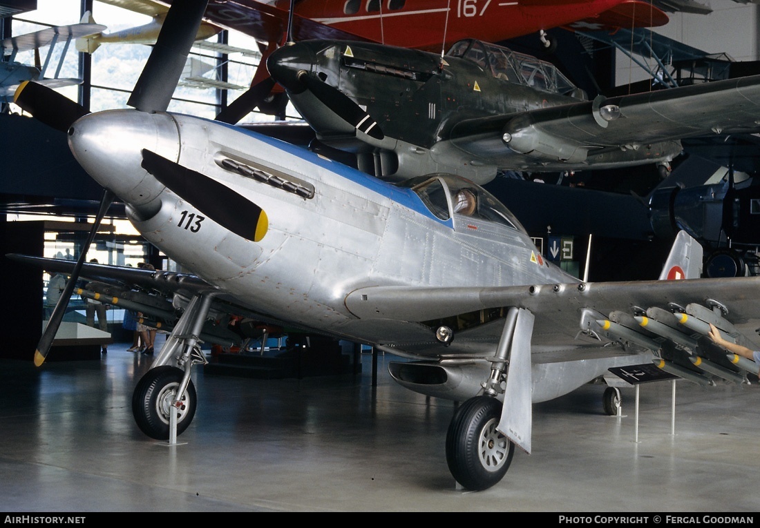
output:
M 290 0 L 274 5 L 287 11 Z M 295 13 L 367 40 L 431 51 L 465 38 L 496 43 L 573 23 L 615 30 L 668 21 L 640 0 L 296 0 Z

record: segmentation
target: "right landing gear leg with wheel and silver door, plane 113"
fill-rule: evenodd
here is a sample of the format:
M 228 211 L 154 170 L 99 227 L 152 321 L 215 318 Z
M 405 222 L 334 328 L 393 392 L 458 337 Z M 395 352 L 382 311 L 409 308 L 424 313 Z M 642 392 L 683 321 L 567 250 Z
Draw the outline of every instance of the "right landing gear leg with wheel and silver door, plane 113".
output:
M 512 456 L 515 454 L 515 444 L 499 429 L 508 428 L 510 432 L 517 432 L 518 436 L 524 435 L 527 431 L 527 444 L 530 445 L 530 334 L 532 332 L 533 315 L 526 310 L 510 308 L 501 340 L 499 340 L 499 347 L 496 349 L 496 356 L 491 360 L 491 375 L 483 384 L 483 395 L 467 400 L 451 419 L 446 435 L 446 461 L 451 475 L 464 488 L 473 491 L 490 488 L 507 473 Z M 522 350 L 516 353 L 516 349 Z M 516 362 L 518 355 L 521 358 Z M 524 372 L 523 359 L 527 359 L 527 374 Z M 515 368 L 517 369 L 514 376 L 516 381 L 512 384 L 508 378 L 508 372 L 515 372 Z M 525 381 L 526 378 L 527 381 Z M 517 387 L 517 389 L 511 387 Z M 527 387 L 527 392 L 524 390 L 525 387 Z M 502 403 L 497 400 L 499 394 L 502 393 L 505 394 L 504 409 L 502 409 Z M 523 416 L 526 406 L 527 429 L 525 416 Z M 510 411 L 511 416 L 508 419 L 502 416 L 505 410 Z M 530 447 L 527 451 L 530 451 Z

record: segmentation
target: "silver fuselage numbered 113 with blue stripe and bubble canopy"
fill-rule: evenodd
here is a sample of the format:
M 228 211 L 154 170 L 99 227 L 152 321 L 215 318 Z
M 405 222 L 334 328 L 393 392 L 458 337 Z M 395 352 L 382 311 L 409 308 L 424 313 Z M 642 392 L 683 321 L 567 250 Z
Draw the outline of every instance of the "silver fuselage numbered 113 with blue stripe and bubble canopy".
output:
M 132 141 L 112 144 L 117 129 Z M 363 321 L 347 308 L 347 296 L 378 285 L 575 281 L 543 260 L 501 204 L 451 175 L 435 176 L 424 191 L 415 191 L 239 128 L 133 110 L 87 115 L 74 124 L 69 142 L 87 172 L 125 202 L 147 240 L 252 310 L 306 330 L 435 355 L 442 346 L 434 329 Z M 201 172 L 261 207 L 268 217 L 264 236 L 245 239 L 179 198 L 141 167 L 141 149 Z M 264 182 L 230 166 L 271 178 Z M 463 189 L 477 194 L 480 214 L 454 212 L 455 194 Z M 394 331 L 398 325 L 405 331 Z

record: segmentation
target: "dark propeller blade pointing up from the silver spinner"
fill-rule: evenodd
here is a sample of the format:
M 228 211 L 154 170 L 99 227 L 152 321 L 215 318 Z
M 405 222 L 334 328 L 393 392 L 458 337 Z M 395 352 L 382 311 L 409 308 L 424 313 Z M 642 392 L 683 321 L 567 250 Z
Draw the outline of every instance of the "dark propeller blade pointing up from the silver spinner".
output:
M 173 2 L 127 104 L 142 112 L 166 112 L 201 27 L 208 0 Z

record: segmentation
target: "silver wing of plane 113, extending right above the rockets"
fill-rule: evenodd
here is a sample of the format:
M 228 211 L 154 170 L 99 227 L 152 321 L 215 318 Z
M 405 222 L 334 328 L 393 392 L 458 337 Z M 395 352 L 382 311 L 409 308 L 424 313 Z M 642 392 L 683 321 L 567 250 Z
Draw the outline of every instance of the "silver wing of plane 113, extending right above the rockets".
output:
M 455 337 L 446 354 L 452 355 L 483 353 L 484 344 L 493 349 L 502 332 L 503 309 L 510 307 L 526 308 L 534 315 L 534 346 L 556 349 L 610 343 L 610 340 L 600 343 L 597 339 L 603 334 L 597 321 L 605 320 L 619 321 L 638 334 L 662 343 L 665 340 L 662 336 L 653 336 L 642 329 L 640 324 L 632 322 L 633 316 L 661 315 L 662 310 L 670 312 L 681 307 L 679 309 L 686 313 L 697 311 L 705 317 L 705 311 L 713 312 L 712 307 L 720 306 L 726 313 L 720 314 L 721 321 L 715 315 L 714 324 L 756 349 L 760 347 L 753 345 L 748 336 L 755 334 L 760 326 L 758 292 L 760 277 L 489 288 L 376 286 L 352 292 L 346 305 L 365 324 L 407 322 L 412 339 L 407 343 L 393 343 L 401 349 L 410 346 L 412 340 L 422 339 L 424 334 L 430 342 L 432 330 L 440 325 L 451 327 Z M 702 310 L 699 306 L 706 308 Z M 418 332 L 414 333 L 413 327 L 417 327 Z M 581 333 L 581 330 L 588 331 Z M 640 341 L 649 343 L 647 339 Z M 629 340 L 627 343 L 637 342 Z M 442 353 L 442 349 L 439 348 L 438 353 Z

